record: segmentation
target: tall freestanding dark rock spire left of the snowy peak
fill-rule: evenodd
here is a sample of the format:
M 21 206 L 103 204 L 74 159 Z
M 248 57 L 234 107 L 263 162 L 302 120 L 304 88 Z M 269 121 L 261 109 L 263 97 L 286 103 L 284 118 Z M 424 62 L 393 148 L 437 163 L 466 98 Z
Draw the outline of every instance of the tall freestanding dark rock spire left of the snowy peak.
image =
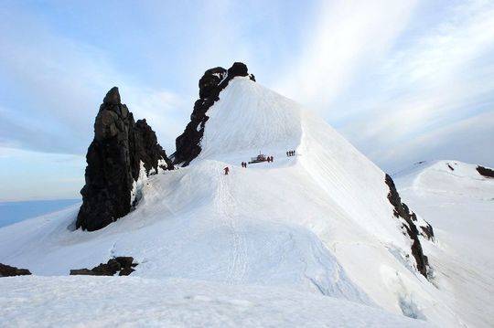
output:
M 89 231 L 106 227 L 130 212 L 141 162 L 145 175 L 173 169 L 156 133 L 145 120 L 134 122 L 116 87 L 108 91 L 100 106 L 86 161 L 86 185 L 81 190 L 76 227 Z

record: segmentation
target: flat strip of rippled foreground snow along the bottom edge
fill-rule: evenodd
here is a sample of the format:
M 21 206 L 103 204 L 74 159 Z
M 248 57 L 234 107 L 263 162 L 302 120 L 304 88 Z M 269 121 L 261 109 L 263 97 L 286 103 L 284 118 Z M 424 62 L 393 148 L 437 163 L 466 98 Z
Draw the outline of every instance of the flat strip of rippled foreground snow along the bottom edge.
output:
M 0 290 L 0 326 L 427 326 L 330 297 L 197 280 L 16 277 L 0 280 Z

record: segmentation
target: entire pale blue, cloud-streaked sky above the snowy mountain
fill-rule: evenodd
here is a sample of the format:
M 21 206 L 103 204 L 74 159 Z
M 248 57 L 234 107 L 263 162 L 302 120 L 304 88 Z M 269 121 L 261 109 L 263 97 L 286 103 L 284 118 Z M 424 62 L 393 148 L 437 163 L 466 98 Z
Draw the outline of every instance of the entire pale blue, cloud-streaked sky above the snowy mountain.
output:
M 173 153 L 234 61 L 386 172 L 494 167 L 494 1 L 3 0 L 0 31 L 0 201 L 80 197 L 113 86 Z

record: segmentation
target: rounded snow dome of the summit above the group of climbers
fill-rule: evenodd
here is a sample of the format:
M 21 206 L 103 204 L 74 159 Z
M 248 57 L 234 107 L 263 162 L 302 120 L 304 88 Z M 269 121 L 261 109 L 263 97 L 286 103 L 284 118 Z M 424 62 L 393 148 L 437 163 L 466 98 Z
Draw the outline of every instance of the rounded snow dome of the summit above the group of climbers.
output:
M 283 155 L 302 137 L 300 106 L 249 77 L 232 79 L 207 115 L 196 161 L 246 159 L 260 151 Z

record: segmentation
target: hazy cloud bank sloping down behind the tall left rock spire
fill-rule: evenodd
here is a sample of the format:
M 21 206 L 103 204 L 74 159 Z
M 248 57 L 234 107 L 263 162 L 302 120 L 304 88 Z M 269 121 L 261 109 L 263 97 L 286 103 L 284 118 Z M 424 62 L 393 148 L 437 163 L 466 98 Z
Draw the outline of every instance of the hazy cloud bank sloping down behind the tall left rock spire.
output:
M 173 144 L 185 122 L 177 113 L 189 111 L 182 97 L 134 81 L 115 69 L 101 49 L 60 36 L 32 19 L 31 24 L 38 23 L 36 33 L 29 24 L 0 24 L 8 31 L 0 38 L 0 67 L 8 77 L 3 81 L 0 141 L 49 153 L 84 153 L 104 93 L 118 86 L 135 118 L 152 117 L 159 123 L 151 122 L 160 139 Z M 17 97 L 9 101 L 7 92 Z

